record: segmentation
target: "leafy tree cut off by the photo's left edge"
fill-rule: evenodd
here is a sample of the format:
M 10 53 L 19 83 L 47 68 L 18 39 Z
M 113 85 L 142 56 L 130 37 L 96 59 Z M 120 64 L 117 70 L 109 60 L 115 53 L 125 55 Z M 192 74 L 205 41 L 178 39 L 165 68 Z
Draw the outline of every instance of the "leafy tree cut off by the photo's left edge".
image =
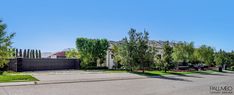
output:
M 8 63 L 8 59 L 13 53 L 10 48 L 12 45 L 11 39 L 15 36 L 15 33 L 7 35 L 6 27 L 6 24 L 0 21 L 0 68 L 3 68 Z

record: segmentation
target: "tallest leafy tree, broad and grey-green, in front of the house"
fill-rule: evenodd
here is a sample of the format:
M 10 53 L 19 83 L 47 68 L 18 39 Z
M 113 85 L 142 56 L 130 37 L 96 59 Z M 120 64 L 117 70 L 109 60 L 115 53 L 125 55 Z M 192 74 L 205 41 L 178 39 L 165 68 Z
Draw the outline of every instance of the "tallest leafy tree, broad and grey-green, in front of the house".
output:
M 115 63 L 119 63 L 126 70 L 133 71 L 150 67 L 154 63 L 156 50 L 149 45 L 149 33 L 136 32 L 135 29 L 130 29 L 128 37 L 125 37 L 120 44 L 112 45 Z

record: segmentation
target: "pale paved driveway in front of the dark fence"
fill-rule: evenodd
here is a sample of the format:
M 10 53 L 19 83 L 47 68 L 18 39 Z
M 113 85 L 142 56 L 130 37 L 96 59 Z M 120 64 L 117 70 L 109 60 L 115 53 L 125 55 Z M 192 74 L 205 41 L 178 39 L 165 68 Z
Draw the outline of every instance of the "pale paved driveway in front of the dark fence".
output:
M 41 82 L 146 78 L 144 76 L 139 76 L 130 73 L 104 73 L 101 71 L 82 71 L 82 70 L 40 71 L 40 72 L 27 72 L 27 74 L 36 77 Z

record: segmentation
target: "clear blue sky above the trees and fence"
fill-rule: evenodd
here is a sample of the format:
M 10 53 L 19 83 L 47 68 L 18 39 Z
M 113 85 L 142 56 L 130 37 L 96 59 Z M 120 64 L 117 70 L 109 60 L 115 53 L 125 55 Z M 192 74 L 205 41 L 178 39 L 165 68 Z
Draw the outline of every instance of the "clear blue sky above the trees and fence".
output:
M 150 39 L 234 50 L 233 0 L 1 0 L 13 46 L 60 51 L 77 37 L 121 40 L 130 28 Z

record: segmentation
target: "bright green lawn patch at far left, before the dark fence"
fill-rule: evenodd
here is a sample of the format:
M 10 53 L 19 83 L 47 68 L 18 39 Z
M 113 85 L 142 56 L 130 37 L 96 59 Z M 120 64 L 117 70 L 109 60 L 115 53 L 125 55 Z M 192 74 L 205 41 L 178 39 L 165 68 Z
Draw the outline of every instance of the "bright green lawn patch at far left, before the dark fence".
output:
M 3 72 L 0 75 L 0 83 L 2 82 L 28 82 L 28 81 L 38 81 L 38 79 L 32 77 L 31 75 L 24 75 L 16 72 Z

